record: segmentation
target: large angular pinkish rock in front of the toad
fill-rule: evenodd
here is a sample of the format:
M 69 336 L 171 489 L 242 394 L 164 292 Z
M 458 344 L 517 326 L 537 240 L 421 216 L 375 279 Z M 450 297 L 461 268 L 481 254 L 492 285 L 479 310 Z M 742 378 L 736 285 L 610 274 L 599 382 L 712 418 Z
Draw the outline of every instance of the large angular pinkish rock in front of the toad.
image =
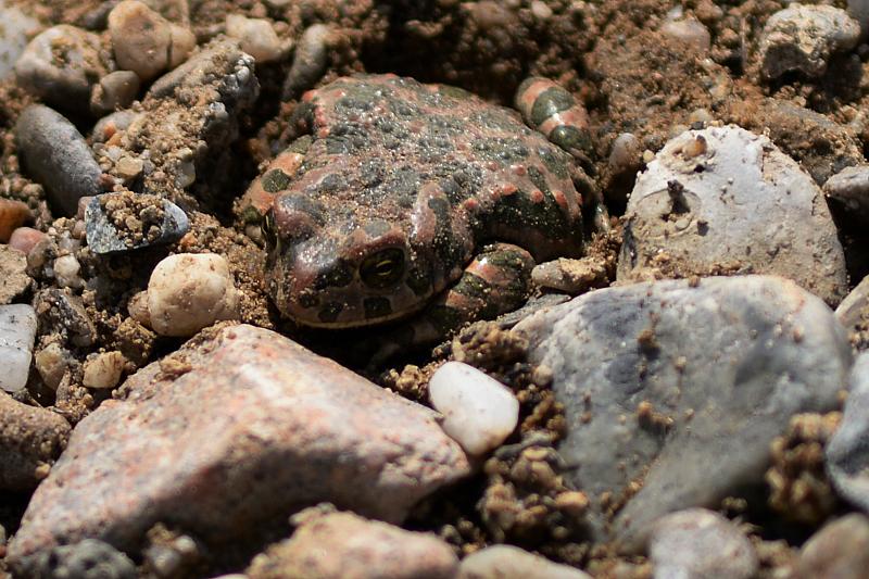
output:
M 34 494 L 18 565 L 85 537 L 129 552 L 160 520 L 225 544 L 324 501 L 400 521 L 470 470 L 428 408 L 252 326 L 188 343 L 124 394 L 78 424 Z

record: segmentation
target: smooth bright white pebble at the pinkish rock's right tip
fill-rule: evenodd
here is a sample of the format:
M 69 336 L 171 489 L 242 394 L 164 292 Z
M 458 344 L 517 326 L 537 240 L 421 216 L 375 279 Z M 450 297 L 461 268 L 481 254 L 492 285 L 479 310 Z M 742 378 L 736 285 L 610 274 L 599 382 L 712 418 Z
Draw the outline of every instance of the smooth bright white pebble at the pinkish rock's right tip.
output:
M 470 454 L 483 454 L 504 442 L 519 421 L 513 392 L 473 366 L 448 362 L 428 386 L 434 410 L 443 414 L 443 431 Z

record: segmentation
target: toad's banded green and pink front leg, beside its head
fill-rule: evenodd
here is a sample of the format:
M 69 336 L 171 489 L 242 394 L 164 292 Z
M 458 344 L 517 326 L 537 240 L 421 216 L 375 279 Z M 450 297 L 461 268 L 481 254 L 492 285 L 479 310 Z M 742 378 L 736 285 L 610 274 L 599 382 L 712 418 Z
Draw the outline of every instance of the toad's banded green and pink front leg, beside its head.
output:
M 483 247 L 459 280 L 419 315 L 388 333 L 371 356 L 376 367 L 408 348 L 436 344 L 478 319 L 520 307 L 530 293 L 531 254 L 512 243 Z

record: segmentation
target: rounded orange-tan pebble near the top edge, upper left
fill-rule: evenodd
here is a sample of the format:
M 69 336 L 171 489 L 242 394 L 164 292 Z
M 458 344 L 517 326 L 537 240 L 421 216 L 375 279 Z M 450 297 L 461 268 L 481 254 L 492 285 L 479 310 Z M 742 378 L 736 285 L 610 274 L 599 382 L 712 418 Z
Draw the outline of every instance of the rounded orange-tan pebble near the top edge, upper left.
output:
M 169 22 L 138 0 L 109 13 L 109 34 L 118 66 L 150 80 L 166 70 L 172 47 Z

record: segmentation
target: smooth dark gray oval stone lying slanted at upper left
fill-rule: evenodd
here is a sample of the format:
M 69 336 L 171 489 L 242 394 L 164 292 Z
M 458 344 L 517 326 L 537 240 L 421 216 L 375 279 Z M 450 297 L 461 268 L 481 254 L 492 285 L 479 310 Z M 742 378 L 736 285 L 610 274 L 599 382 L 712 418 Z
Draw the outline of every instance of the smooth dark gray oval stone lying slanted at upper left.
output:
M 75 215 L 78 200 L 102 192 L 102 171 L 78 129 L 63 115 L 33 104 L 15 123 L 15 142 L 27 174 L 46 188 L 51 207 Z

